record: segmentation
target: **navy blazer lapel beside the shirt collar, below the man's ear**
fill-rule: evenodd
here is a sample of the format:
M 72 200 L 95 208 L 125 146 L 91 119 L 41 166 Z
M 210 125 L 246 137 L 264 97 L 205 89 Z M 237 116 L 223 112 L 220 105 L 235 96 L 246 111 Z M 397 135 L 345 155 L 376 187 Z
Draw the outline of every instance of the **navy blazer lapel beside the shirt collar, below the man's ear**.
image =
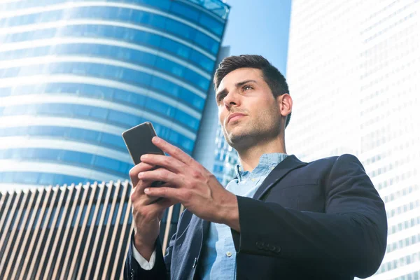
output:
M 253 195 L 253 198 L 260 200 L 267 191 L 272 188 L 277 182 L 279 182 L 281 179 L 283 179 L 288 172 L 292 171 L 293 169 L 296 169 L 298 167 L 302 167 L 304 165 L 307 165 L 305 162 L 301 162 L 296 158 L 295 155 L 289 155 L 287 158 L 282 160 L 273 170 L 270 172 L 265 178 L 265 180 L 262 182 L 261 186 L 258 188 L 258 190 L 255 192 L 255 195 Z

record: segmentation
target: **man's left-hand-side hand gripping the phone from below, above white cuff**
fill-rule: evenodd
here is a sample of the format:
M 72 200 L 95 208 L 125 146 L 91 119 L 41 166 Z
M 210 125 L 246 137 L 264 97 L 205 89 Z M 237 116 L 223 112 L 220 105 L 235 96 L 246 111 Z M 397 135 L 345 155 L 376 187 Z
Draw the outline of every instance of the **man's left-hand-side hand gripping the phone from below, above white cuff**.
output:
M 159 222 L 165 209 L 178 203 L 174 200 L 163 199 L 159 202 L 144 193 L 144 189 L 151 186 L 153 181 L 139 180 L 140 172 L 151 170 L 154 165 L 141 162 L 130 170 L 133 190 L 131 195 L 134 219 L 134 246 L 146 260 L 151 258 L 155 250 L 155 241 L 159 235 Z

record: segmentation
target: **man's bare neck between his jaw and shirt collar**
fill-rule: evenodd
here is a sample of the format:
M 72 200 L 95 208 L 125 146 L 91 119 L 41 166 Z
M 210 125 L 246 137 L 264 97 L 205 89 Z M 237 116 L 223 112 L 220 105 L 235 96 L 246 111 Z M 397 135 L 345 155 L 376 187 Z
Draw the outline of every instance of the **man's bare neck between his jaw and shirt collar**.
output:
M 244 151 L 238 151 L 239 162 L 244 171 L 252 172 L 257 167 L 261 155 L 265 153 L 286 153 L 284 139 L 274 139 L 273 141 L 251 146 Z

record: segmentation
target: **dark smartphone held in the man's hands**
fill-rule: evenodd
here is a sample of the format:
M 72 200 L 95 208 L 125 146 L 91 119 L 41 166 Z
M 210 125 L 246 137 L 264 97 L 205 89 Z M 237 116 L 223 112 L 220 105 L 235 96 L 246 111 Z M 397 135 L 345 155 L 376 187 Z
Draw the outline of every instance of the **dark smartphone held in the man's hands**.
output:
M 134 165 L 138 165 L 141 160 L 141 155 L 146 153 L 165 155 L 165 153 L 152 143 L 152 138 L 156 136 L 155 129 L 152 123 L 146 122 L 141 125 L 130 128 L 123 132 L 123 139 L 125 146 L 127 146 L 128 153 L 130 153 Z M 159 167 L 153 167 L 152 170 Z M 162 186 L 165 182 L 155 181 L 151 187 Z

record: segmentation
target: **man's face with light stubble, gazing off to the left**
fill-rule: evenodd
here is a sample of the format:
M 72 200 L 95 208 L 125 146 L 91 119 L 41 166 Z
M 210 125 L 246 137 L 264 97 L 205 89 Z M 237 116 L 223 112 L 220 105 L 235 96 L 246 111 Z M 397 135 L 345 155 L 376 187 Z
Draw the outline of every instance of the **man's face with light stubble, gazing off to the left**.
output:
M 279 104 L 260 69 L 240 68 L 228 73 L 216 91 L 216 102 L 225 139 L 237 150 L 281 133 Z

